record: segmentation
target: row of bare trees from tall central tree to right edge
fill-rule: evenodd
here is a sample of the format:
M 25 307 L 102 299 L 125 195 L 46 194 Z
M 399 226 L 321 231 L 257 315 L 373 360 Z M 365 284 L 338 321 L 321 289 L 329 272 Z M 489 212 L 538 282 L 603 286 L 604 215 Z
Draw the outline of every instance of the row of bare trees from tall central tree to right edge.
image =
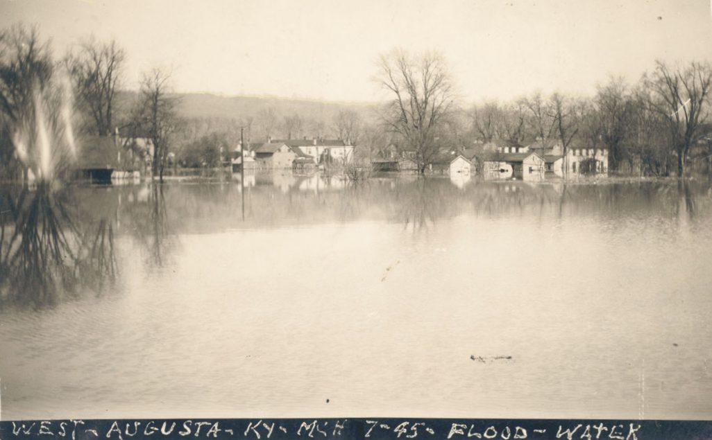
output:
M 595 95 L 534 92 L 510 102 L 458 104 L 439 53 L 382 55 L 377 82 L 386 91 L 381 120 L 419 168 L 450 149 L 478 151 L 495 139 L 609 151 L 609 169 L 644 176 L 712 176 L 712 67 L 657 61 L 634 84 L 610 77 Z

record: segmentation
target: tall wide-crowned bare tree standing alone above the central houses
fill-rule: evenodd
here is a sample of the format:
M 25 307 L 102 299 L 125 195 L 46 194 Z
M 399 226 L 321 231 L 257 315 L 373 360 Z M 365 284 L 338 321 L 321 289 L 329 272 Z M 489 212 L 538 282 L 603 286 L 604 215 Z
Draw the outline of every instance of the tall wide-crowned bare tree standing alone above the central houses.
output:
M 412 56 L 403 50 L 382 55 L 379 83 L 391 95 L 382 117 L 414 150 L 420 173 L 439 149 L 436 129 L 453 106 L 454 95 L 445 61 L 439 53 Z

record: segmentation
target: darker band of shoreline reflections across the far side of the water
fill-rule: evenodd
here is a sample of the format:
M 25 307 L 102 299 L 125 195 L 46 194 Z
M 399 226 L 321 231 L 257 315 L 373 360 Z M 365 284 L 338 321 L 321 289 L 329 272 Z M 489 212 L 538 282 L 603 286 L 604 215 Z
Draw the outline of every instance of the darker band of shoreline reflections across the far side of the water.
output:
M 246 183 L 244 191 L 224 178 L 0 188 L 0 299 L 41 307 L 80 293 L 103 294 L 117 288 L 122 266 L 138 255 L 149 272 L 172 264 L 182 253 L 180 237 L 191 233 L 365 220 L 422 232 L 461 215 L 535 223 L 598 219 L 612 228 L 656 218 L 689 232 L 703 227 L 711 210 L 709 184 L 689 181 L 460 185 L 446 177 L 401 175 L 350 184 L 319 174 L 258 173 Z M 120 251 L 120 242 L 133 250 Z

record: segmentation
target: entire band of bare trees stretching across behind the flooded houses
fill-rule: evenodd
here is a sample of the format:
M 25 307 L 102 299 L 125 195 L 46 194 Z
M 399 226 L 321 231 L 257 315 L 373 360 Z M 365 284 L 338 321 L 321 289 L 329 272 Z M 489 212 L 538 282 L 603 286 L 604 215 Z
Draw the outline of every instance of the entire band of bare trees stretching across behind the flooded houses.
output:
M 392 50 L 379 58 L 377 85 L 385 92 L 372 117 L 342 109 L 327 120 L 266 107 L 238 118 L 179 117 L 179 98 L 164 68 L 142 73 L 138 92 L 125 80 L 127 54 L 116 41 L 78 41 L 61 57 L 38 28 L 0 30 L 0 159 L 4 176 L 38 174 L 43 136 L 71 144 L 82 136 L 150 139 L 152 149 L 125 142 L 152 176 L 167 166 L 219 166 L 239 141 L 332 137 L 356 146 L 360 163 L 389 149 L 408 152 L 419 170 L 444 151 L 478 151 L 495 139 L 540 140 L 605 148 L 609 169 L 646 176 L 712 176 L 709 63 L 656 62 L 632 84 L 610 77 L 594 95 L 534 92 L 508 102 L 462 104 L 441 53 Z M 68 104 L 69 102 L 69 104 Z M 46 119 L 36 129 L 38 117 Z M 42 119 L 41 118 L 41 119 Z M 71 124 L 63 123 L 71 119 Z M 44 127 L 46 126 L 46 127 Z M 91 148 L 91 146 L 88 146 Z M 57 151 L 70 149 L 57 149 Z M 148 157 L 148 154 L 151 154 Z M 69 163 L 55 151 L 51 168 Z

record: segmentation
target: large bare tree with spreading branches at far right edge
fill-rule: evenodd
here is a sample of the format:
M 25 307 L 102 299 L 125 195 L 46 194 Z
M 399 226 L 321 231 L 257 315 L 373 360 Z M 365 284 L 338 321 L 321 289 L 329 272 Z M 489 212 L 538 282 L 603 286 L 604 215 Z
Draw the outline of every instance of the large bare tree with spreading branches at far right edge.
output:
M 677 176 L 684 177 L 687 154 L 703 136 L 701 124 L 708 117 L 712 66 L 693 62 L 670 68 L 657 61 L 644 84 L 653 92 L 651 106 L 665 117 L 677 156 Z

